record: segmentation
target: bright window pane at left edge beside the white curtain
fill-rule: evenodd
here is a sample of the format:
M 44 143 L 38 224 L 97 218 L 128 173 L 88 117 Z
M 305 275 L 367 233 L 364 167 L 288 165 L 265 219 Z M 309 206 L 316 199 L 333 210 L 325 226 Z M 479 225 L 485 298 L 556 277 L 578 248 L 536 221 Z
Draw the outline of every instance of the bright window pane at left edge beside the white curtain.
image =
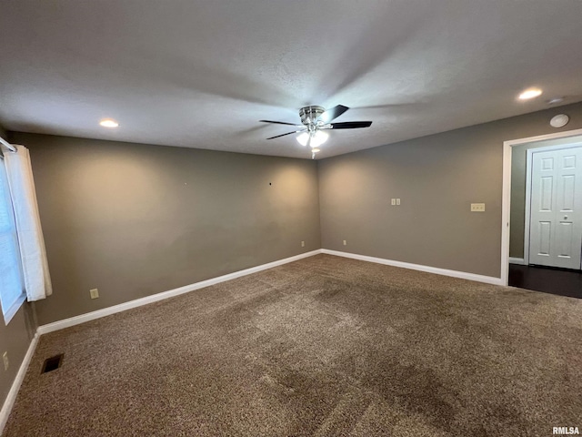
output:
M 0 254 L 0 303 L 8 324 L 26 295 L 4 159 L 0 159 Z

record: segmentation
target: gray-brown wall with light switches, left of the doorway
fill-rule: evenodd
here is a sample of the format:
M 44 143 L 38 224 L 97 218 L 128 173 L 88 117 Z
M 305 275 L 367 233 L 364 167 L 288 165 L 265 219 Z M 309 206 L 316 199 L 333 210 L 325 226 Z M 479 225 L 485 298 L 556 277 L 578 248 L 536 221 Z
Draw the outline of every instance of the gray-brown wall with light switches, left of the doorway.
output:
M 581 127 L 576 104 L 319 161 L 322 247 L 498 278 L 503 142 Z

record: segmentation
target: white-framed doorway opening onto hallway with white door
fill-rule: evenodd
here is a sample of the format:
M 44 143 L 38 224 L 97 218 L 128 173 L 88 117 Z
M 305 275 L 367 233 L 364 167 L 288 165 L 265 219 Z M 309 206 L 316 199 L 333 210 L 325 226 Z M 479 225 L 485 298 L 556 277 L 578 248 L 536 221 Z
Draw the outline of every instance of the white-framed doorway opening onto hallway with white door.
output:
M 571 158 L 575 147 L 580 151 Z M 566 152 L 568 148 L 572 150 Z M 564 152 L 551 156 L 559 150 Z M 540 171 L 552 168 L 551 178 L 537 171 L 538 180 L 532 184 L 534 160 Z M 582 186 L 577 185 L 582 184 L 582 173 L 563 171 L 579 168 L 581 163 L 582 129 L 504 143 L 501 279 L 505 284 L 582 298 L 582 221 L 577 219 L 582 208 Z M 565 203 L 567 194 L 569 204 Z M 540 216 L 540 211 L 547 212 L 547 217 Z M 579 243 L 573 242 L 577 232 Z

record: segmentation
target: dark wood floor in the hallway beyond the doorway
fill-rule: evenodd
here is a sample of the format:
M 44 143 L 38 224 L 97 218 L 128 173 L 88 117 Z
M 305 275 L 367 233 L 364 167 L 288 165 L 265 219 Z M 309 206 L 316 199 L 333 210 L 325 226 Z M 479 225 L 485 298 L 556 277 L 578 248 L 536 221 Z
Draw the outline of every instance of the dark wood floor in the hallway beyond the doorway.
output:
M 582 299 L 582 271 L 509 264 L 509 285 Z

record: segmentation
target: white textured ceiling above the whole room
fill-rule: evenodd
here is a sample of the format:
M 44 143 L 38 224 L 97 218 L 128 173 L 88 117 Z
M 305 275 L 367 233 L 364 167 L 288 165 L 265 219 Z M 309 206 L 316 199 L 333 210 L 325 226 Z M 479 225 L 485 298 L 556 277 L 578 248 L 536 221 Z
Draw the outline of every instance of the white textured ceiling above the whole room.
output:
M 329 131 L 326 158 L 582 100 L 579 0 L 0 3 L 9 130 L 310 158 L 258 120 L 373 120 Z

